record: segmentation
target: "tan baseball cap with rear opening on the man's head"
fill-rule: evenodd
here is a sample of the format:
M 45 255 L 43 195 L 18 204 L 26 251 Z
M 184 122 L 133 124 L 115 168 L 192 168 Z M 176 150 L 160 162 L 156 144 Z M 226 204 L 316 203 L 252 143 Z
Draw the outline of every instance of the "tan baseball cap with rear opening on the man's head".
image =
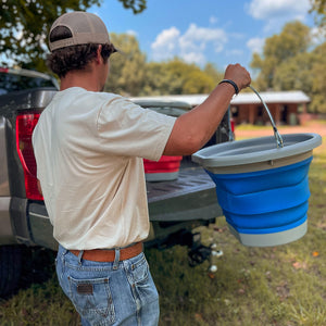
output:
M 51 33 L 59 26 L 66 27 L 70 30 L 68 36 L 51 41 Z M 103 21 L 98 15 L 84 11 L 68 12 L 61 15 L 54 21 L 49 35 L 51 51 L 78 45 L 111 43 L 109 32 Z

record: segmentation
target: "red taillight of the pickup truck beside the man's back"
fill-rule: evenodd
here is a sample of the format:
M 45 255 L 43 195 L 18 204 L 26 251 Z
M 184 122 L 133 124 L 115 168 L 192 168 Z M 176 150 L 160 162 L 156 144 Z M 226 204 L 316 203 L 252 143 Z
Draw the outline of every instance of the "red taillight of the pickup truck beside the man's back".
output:
M 16 117 L 16 149 L 24 170 L 26 198 L 42 200 L 37 188 L 36 160 L 32 134 L 40 113 L 20 114 Z

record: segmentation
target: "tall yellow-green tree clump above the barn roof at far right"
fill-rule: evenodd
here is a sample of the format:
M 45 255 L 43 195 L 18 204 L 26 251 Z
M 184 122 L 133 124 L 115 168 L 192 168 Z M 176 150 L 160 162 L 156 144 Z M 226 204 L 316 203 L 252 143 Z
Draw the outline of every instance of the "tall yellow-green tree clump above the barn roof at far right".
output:
M 326 42 L 313 49 L 308 26 L 287 24 L 266 39 L 263 55 L 254 53 L 251 65 L 259 71 L 260 90 L 302 90 L 312 100 L 311 112 L 326 113 Z

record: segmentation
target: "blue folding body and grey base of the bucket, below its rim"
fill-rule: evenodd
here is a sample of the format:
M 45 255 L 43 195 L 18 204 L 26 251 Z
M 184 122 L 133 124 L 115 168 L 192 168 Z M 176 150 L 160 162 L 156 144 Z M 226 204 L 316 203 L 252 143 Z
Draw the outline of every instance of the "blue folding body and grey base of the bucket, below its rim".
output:
M 246 246 L 277 246 L 306 233 L 308 172 L 312 156 L 273 170 L 214 174 L 218 203 L 231 233 Z

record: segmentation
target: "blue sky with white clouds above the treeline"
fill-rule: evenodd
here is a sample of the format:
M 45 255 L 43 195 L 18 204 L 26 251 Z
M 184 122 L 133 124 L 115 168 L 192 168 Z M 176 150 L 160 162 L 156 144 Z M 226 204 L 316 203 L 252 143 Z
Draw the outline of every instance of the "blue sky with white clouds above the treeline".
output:
M 224 70 L 229 63 L 250 68 L 252 53 L 261 53 L 265 39 L 287 22 L 315 27 L 309 10 L 310 0 L 147 0 L 147 9 L 135 15 L 118 0 L 103 0 L 88 11 L 104 21 L 109 34 L 135 35 L 148 61 L 177 55 Z

